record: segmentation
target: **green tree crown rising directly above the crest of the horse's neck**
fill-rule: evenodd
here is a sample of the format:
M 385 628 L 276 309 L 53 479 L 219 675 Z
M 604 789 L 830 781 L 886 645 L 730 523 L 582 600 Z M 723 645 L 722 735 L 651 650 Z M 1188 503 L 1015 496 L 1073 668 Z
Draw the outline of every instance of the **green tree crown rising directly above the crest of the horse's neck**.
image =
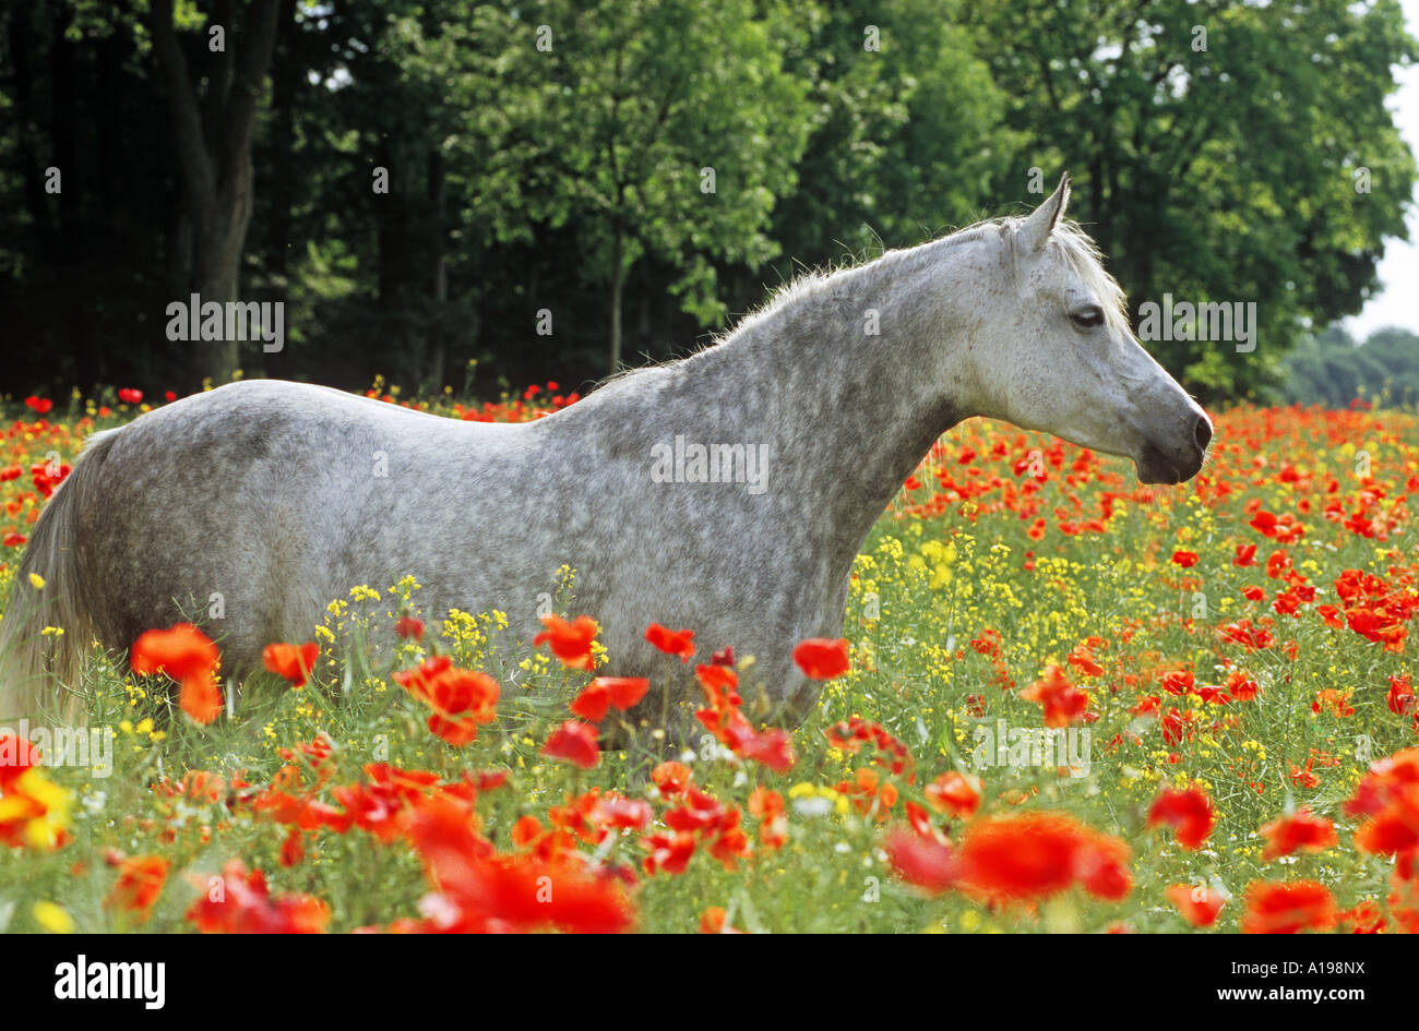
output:
M 911 247 L 982 211 L 1019 142 L 956 9 L 802 9 L 786 65 L 812 84 L 812 133 L 796 189 L 773 211 L 783 278 L 843 251 Z

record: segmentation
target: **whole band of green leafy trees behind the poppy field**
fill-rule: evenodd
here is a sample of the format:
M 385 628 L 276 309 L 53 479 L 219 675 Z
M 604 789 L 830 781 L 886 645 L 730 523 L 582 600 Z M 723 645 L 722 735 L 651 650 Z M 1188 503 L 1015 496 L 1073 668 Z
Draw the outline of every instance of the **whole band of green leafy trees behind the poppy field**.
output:
M 1413 52 L 1393 0 L 7 6 L 0 389 L 570 387 L 1067 169 L 1135 315 L 1256 302 L 1253 353 L 1152 345 L 1256 393 L 1403 235 Z M 199 288 L 282 302 L 285 349 L 167 340 Z

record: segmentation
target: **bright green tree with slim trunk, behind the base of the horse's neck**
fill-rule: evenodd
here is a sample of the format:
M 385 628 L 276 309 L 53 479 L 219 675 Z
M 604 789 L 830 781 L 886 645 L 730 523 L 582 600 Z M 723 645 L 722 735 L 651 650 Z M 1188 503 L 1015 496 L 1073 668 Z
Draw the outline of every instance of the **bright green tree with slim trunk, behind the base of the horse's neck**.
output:
M 782 69 L 786 9 L 751 0 L 546 0 L 522 11 L 541 61 L 538 135 L 553 170 L 545 211 L 575 218 L 606 288 L 607 352 L 622 362 L 626 275 L 647 254 L 701 321 L 722 321 L 711 260 L 758 267 L 806 138 L 805 84 Z

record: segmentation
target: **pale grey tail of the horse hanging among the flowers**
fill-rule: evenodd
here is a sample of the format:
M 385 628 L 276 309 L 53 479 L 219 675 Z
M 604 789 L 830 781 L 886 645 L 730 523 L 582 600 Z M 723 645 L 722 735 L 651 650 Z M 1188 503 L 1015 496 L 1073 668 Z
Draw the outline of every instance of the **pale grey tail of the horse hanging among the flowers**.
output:
M 34 526 L 0 618 L 0 719 L 72 722 L 82 716 L 79 672 L 94 620 L 84 604 L 89 594 L 75 535 L 79 513 L 101 503 L 99 474 L 116 433 L 89 437 Z

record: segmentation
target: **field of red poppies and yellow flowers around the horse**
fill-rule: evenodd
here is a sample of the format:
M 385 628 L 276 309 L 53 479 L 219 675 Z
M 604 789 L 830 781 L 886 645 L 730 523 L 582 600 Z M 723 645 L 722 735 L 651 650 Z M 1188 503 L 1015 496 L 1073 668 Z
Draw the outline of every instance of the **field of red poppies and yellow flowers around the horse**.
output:
M 84 438 L 149 401 L 26 406 L 0 598 Z M 846 640 L 788 642 L 824 685 L 803 726 L 752 657 L 647 627 L 695 685 L 684 752 L 597 674 L 575 570 L 534 641 L 359 586 L 240 696 L 216 630 L 155 627 L 136 674 L 95 655 L 87 762 L 0 726 L 0 927 L 1416 930 L 1416 491 L 1403 411 L 1218 413 L 1179 488 L 972 420 L 864 545 Z

